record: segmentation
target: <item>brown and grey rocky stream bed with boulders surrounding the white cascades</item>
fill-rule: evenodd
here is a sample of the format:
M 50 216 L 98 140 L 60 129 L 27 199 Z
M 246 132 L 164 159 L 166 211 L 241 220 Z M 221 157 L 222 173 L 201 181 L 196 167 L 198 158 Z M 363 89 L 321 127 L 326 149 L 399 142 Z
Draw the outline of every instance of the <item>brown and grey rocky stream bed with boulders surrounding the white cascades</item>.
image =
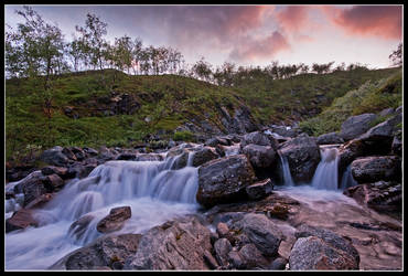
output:
M 116 234 L 137 210 L 112 209 L 97 224 L 103 236 L 50 269 L 401 269 L 401 108 L 369 127 L 374 120 L 371 114 L 354 116 L 341 132 L 321 137 L 270 127 L 150 153 L 54 147 L 41 156 L 49 166 L 40 170 L 7 168 L 8 180 L 18 181 L 6 187 L 6 199 L 20 209 L 7 206 L 13 213 L 6 232 L 41 226 L 35 210 L 101 163 L 173 158 L 173 170 L 198 168 L 197 214 L 140 234 Z M 350 198 L 322 201 L 297 193 L 297 187 L 277 189 L 280 158 L 296 183 L 310 183 L 321 161 L 319 146 L 328 144 L 341 144 L 339 183 L 347 171 L 356 181 L 344 189 Z M 79 238 L 89 221 L 82 216 L 69 231 Z

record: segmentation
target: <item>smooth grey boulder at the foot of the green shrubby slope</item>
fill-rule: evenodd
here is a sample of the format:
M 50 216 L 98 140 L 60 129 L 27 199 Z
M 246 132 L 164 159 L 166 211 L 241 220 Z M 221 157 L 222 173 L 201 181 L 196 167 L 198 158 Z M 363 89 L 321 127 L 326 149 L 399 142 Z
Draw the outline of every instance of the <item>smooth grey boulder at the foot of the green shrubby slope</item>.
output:
M 348 117 L 341 127 L 340 136 L 344 140 L 351 140 L 369 129 L 369 124 L 378 116 L 372 113 L 366 113 L 357 116 Z

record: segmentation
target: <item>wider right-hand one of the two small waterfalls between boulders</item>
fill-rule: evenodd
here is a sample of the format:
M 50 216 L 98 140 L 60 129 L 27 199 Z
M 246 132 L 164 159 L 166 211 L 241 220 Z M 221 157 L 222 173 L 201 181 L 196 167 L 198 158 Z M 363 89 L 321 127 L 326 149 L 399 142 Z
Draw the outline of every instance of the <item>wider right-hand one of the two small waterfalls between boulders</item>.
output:
M 320 147 L 321 161 L 314 172 L 311 185 L 315 189 L 339 189 L 339 149 L 333 145 Z

